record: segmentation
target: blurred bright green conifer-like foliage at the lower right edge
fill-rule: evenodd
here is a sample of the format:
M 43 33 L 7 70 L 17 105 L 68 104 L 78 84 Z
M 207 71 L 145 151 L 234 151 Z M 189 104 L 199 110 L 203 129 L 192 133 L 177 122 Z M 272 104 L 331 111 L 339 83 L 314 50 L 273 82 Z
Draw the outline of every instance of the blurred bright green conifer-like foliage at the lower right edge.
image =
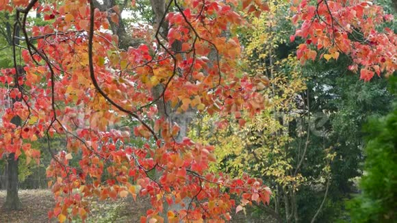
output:
M 396 77 L 390 82 L 396 92 Z M 372 118 L 365 129 L 368 136 L 361 194 L 348 202 L 350 217 L 353 222 L 396 222 L 397 104 L 387 116 Z

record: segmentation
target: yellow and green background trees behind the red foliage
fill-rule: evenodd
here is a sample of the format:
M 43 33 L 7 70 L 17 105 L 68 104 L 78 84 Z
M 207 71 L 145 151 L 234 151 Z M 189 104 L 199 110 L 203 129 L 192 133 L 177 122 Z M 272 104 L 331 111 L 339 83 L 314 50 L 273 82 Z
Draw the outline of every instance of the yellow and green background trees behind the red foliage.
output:
M 375 3 L 396 18 L 392 0 Z M 153 26 L 150 7 L 149 0 L 127 5 L 125 28 Z M 252 118 L 236 110 L 228 123 L 221 115 L 201 112 L 190 117 L 187 135 L 215 146 L 217 161 L 210 170 L 231 176 L 248 173 L 272 189 L 270 205 L 242 207 L 237 215 L 248 217 L 240 221 L 396 221 L 396 75 L 363 81 L 348 69 L 351 60 L 342 54 L 337 60 L 301 64 L 296 47 L 304 40 L 290 41 L 295 33 L 290 3 L 272 0 L 268 7 L 257 17 L 246 14 L 252 16 L 252 24 L 233 30 L 244 48 L 244 60 L 235 66 L 261 77 L 265 109 Z M 29 20 L 42 23 L 40 16 Z M 0 68 L 9 68 L 12 18 L 5 12 L 0 18 Z M 396 33 L 395 21 L 385 26 Z M 131 129 L 138 124 L 123 123 Z M 39 139 L 34 145 L 44 148 L 47 143 Z M 56 135 L 51 140 L 56 150 L 65 150 L 65 144 Z M 144 142 L 136 138 L 131 144 L 139 147 Z M 37 165 L 21 155 L 19 189 L 46 189 L 51 158 L 50 153 L 42 153 Z M 0 159 L 0 189 L 6 188 L 6 175 L 7 160 Z

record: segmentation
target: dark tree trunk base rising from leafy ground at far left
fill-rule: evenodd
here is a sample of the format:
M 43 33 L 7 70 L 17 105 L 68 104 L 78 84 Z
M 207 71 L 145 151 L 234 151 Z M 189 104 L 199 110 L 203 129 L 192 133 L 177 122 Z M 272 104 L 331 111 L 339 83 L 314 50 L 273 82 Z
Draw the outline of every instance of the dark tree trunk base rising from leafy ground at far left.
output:
M 18 159 L 15 159 L 15 153 L 10 153 L 7 159 L 7 198 L 3 209 L 19 210 L 22 209 L 22 203 L 18 197 Z

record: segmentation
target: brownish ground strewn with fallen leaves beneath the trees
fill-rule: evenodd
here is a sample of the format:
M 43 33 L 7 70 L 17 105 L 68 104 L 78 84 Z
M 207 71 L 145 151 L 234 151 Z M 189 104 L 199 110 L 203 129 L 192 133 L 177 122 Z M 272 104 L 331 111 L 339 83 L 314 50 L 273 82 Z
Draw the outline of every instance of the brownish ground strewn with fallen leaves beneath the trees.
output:
M 5 202 L 5 191 L 0 191 L 0 207 Z M 24 189 L 19 191 L 19 198 L 23 204 L 21 211 L 5 211 L 0 208 L 0 222 L 56 222 L 56 219 L 48 219 L 48 211 L 54 207 L 54 199 L 51 191 L 46 189 Z M 124 198 L 118 200 L 92 200 L 91 213 L 86 222 L 140 222 L 140 216 L 146 215 L 146 210 L 150 208 L 147 198 Z M 232 214 L 231 222 L 273 222 L 269 216 L 261 215 L 257 211 L 248 209 L 238 215 Z M 81 222 L 81 220 L 73 220 Z

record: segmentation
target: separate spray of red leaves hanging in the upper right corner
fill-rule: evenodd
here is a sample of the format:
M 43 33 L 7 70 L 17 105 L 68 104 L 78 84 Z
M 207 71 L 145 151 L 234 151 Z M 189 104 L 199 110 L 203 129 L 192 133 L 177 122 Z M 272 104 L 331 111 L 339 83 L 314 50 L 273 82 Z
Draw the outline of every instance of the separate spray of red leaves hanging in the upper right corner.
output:
M 305 39 L 296 51 L 301 62 L 316 60 L 317 51 L 325 60 L 337 60 L 341 53 L 348 55 L 349 70 L 360 73 L 369 81 L 374 74 L 392 75 L 396 70 L 396 34 L 379 25 L 393 21 L 392 14 L 371 1 L 293 1 L 294 23 L 301 23 L 294 35 Z

